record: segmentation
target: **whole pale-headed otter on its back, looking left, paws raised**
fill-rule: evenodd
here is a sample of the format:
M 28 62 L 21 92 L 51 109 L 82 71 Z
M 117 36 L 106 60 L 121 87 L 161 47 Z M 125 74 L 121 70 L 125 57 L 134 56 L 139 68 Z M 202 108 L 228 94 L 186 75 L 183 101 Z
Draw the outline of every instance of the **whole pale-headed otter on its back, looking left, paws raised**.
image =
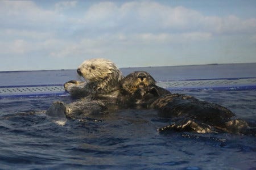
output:
M 68 118 L 81 118 L 117 109 L 123 75 L 112 61 L 88 59 L 78 67 L 77 74 L 86 82 L 71 80 L 64 84 L 64 88 L 73 99 L 78 100 L 69 104 L 57 101 L 48 109 L 47 115 L 64 114 Z

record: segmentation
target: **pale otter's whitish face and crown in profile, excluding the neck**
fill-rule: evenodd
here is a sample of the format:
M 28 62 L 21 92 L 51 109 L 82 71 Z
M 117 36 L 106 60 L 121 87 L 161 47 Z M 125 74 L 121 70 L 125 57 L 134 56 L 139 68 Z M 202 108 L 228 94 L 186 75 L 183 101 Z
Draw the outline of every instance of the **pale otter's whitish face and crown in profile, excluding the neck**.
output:
M 104 58 L 93 58 L 82 62 L 77 73 L 89 82 L 101 82 L 108 79 L 112 73 L 118 76 L 121 74 L 112 61 Z

